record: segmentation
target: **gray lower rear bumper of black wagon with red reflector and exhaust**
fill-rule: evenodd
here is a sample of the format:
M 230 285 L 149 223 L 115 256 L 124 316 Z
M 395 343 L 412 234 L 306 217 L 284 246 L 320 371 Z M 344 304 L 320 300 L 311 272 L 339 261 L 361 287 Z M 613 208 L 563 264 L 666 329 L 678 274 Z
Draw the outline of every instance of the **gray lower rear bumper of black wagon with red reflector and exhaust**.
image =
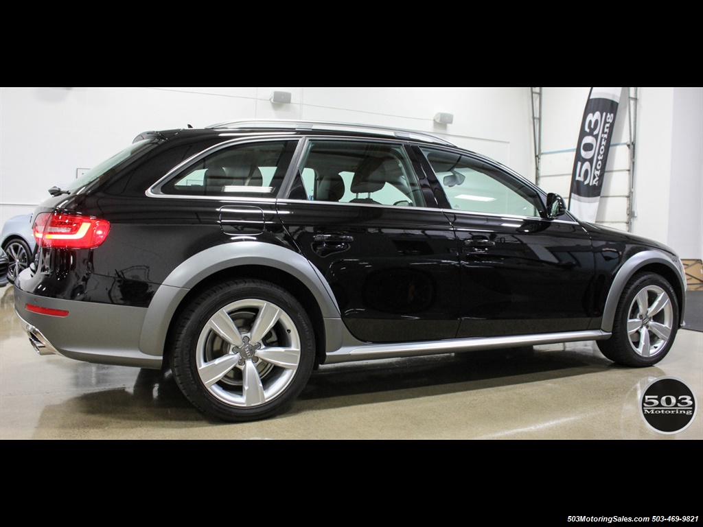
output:
M 89 363 L 158 369 L 162 358 L 142 353 L 139 338 L 146 308 L 40 297 L 15 287 L 15 313 L 39 355 L 57 354 Z M 36 313 L 27 305 L 67 312 Z

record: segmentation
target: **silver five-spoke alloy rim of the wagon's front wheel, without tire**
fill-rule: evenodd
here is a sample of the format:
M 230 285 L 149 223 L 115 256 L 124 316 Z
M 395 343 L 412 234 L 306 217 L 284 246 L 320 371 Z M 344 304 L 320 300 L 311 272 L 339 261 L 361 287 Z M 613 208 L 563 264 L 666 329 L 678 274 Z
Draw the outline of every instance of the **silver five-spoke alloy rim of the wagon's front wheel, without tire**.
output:
M 657 355 L 671 336 L 673 306 L 669 294 L 657 285 L 647 285 L 630 305 L 627 334 L 639 356 Z

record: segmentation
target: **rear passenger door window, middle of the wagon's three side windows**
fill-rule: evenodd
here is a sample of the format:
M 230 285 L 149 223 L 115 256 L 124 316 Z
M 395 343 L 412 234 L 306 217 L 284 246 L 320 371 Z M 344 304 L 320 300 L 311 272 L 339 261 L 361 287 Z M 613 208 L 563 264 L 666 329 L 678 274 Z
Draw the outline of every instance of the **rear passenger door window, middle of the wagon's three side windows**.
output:
M 307 200 L 425 205 L 418 178 L 401 145 L 313 140 L 300 174 Z

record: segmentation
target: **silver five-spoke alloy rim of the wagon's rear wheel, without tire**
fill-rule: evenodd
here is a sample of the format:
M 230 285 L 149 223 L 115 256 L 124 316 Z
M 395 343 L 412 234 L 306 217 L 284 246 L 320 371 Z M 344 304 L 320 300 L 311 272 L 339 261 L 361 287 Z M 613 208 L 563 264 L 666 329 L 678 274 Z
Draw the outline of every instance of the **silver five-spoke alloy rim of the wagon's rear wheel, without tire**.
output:
M 285 391 L 295 377 L 301 345 L 295 323 L 283 309 L 245 299 L 209 318 L 196 353 L 207 391 L 228 405 L 250 408 Z

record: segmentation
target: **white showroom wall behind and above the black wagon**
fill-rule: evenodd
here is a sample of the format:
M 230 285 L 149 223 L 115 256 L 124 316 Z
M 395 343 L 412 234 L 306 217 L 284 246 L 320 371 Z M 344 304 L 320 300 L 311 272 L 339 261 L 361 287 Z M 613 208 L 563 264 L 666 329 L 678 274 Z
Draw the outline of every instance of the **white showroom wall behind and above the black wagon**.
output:
M 291 103 L 271 103 L 274 89 L 290 91 Z M 703 89 L 681 90 L 639 89 L 638 217 L 633 231 L 674 245 L 685 258 L 700 258 Z M 545 174 L 550 164 L 553 171 L 567 167 L 565 174 L 570 173 L 587 97 L 588 88 L 543 89 L 542 150 L 550 152 L 543 156 Z M 627 159 L 626 106 L 621 100 L 612 138 L 612 150 L 624 152 L 611 152 L 609 167 L 615 167 L 614 172 Z M 434 123 L 437 112 L 453 114 L 453 123 Z M 534 181 L 531 90 L 525 87 L 2 87 L 0 223 L 30 212 L 48 197 L 46 189 L 75 178 L 77 169 L 93 167 L 142 131 L 268 118 L 362 122 L 430 131 L 489 155 Z M 541 186 L 568 196 L 567 180 L 568 176 L 545 177 Z M 621 192 L 617 178 L 607 184 L 613 186 L 609 188 L 613 194 Z M 609 200 L 606 207 L 619 211 L 618 199 Z M 670 200 L 676 205 L 671 212 Z M 678 229 L 681 223 L 699 227 L 697 243 L 682 235 Z

